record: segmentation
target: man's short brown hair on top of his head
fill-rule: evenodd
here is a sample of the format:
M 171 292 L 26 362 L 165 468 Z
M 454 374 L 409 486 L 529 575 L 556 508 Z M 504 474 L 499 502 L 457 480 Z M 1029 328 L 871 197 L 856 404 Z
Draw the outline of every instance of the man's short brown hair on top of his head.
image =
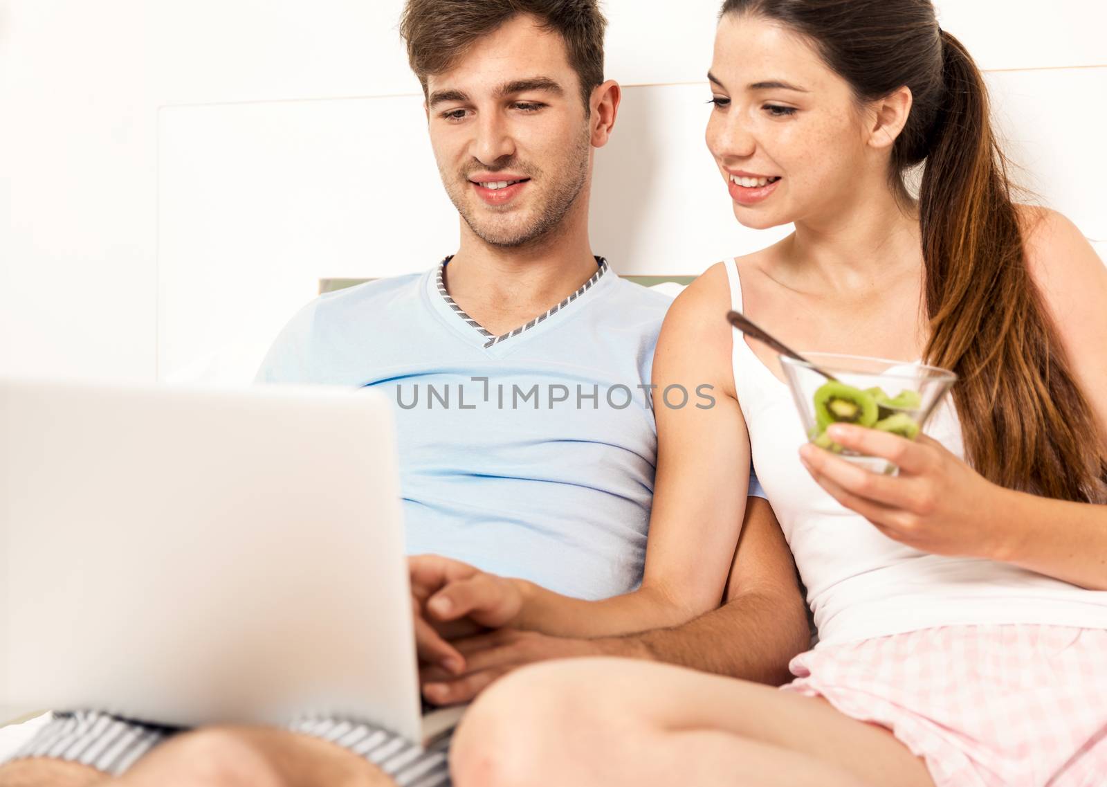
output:
M 603 84 L 607 20 L 598 0 L 407 0 L 400 35 L 423 93 L 428 76 L 448 71 L 477 40 L 520 13 L 561 35 L 588 112 L 592 90 Z

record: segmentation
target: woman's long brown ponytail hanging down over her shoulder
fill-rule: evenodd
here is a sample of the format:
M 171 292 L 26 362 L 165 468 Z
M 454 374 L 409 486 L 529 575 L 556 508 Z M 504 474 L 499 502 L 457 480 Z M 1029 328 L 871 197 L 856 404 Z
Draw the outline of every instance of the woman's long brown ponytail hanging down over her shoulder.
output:
M 955 371 L 966 458 L 1003 486 L 1104 501 L 1097 427 L 1025 260 L 1032 213 L 1011 198 L 987 90 L 942 31 L 944 100 L 919 194 L 928 362 Z

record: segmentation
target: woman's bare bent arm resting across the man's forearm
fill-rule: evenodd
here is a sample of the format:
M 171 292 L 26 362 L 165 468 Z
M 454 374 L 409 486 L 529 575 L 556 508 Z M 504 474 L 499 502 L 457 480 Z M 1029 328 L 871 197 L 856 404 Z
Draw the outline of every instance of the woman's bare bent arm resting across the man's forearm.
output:
M 447 620 L 476 611 L 472 617 L 486 625 L 609 636 L 679 625 L 720 605 L 749 478 L 749 438 L 731 371 L 728 308 L 726 271 L 717 265 L 676 299 L 661 331 L 653 363 L 658 472 L 641 588 L 603 601 L 582 601 L 514 580 L 513 599 L 505 580 L 479 574 L 453 581 L 432 598 L 432 615 Z M 682 408 L 665 404 L 664 391 L 674 385 L 689 392 Z M 714 403 L 706 406 L 697 392 Z M 682 398 L 672 395 L 670 401 Z M 778 543 L 764 548 L 779 549 Z M 783 565 L 779 555 L 754 553 L 759 549 L 749 548 L 751 565 Z M 779 577 L 749 579 L 751 584 L 757 581 L 775 589 L 794 584 L 794 577 L 789 568 L 780 569 Z

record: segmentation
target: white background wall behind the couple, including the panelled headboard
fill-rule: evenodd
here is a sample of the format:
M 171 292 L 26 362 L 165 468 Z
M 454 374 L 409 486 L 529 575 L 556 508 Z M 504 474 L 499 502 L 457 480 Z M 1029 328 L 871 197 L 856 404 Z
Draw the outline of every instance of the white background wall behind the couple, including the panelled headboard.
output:
M 717 4 L 606 3 L 608 71 L 630 87 L 600 154 L 594 240 L 621 272 L 699 272 L 757 240 L 725 199 L 674 204 L 663 189 L 710 166 L 700 101 Z M 449 251 L 456 227 L 416 128 L 401 6 L 0 0 L 0 174 L 11 195 L 8 205 L 0 190 L 11 216 L 0 370 L 153 379 L 216 353 L 242 374 L 318 277 L 422 269 Z M 996 72 L 1032 185 L 1107 241 L 1107 4 L 1057 0 L 1045 13 L 1030 0 L 943 0 L 940 10 Z M 392 125 L 360 144 L 380 117 Z M 395 160 L 423 167 L 418 209 L 390 210 L 373 195 L 370 172 Z M 382 249 L 406 252 L 373 253 Z

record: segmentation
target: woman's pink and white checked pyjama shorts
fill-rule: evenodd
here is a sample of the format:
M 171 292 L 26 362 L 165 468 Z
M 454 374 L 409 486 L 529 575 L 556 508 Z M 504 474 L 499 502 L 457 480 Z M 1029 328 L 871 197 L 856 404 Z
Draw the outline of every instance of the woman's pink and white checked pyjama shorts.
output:
M 887 727 L 938 787 L 1107 785 L 1107 630 L 956 625 L 825 644 L 784 691 Z

